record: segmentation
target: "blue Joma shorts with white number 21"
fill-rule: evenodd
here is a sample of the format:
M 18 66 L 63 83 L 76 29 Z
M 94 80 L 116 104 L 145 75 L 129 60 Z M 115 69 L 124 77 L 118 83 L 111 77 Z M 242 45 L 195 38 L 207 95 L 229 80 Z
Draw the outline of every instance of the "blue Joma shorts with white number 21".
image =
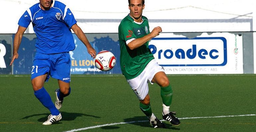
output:
M 70 82 L 70 56 L 69 52 L 57 54 L 36 53 L 33 61 L 31 80 L 47 74 L 45 82 L 50 76 L 63 82 Z

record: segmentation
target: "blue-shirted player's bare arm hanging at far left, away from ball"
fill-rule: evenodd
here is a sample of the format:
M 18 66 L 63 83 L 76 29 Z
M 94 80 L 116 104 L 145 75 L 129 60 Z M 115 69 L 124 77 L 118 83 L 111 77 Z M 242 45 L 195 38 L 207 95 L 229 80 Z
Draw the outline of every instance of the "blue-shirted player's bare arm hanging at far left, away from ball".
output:
M 19 26 L 18 31 L 14 36 L 13 56 L 12 56 L 12 61 L 10 63 L 10 66 L 12 65 L 14 60 L 19 57 L 18 50 L 19 50 L 19 47 L 20 47 L 22 36 L 23 36 L 24 32 L 26 31 L 26 29 L 27 29 L 26 27 Z

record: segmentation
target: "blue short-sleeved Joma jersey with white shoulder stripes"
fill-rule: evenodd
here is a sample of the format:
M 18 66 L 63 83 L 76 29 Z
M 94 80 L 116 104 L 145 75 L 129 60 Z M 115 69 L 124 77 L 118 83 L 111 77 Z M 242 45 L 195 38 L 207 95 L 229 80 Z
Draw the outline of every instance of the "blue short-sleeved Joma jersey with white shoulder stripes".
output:
M 30 22 L 37 36 L 37 52 L 53 54 L 75 49 L 70 28 L 77 21 L 63 3 L 53 0 L 50 10 L 42 10 L 39 3 L 33 5 L 21 16 L 18 24 L 27 28 Z

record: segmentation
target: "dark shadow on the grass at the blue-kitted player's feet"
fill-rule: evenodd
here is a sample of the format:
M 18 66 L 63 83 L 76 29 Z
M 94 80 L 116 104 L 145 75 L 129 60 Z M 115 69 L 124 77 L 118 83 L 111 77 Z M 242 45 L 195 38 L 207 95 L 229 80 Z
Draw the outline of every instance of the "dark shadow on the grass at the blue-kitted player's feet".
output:
M 44 121 L 47 120 L 47 117 L 49 116 L 49 113 L 25 116 L 21 119 L 27 119 L 27 118 L 30 118 L 30 117 L 42 116 L 42 115 L 45 115 L 46 117 L 39 118 L 38 121 L 39 122 L 44 122 Z M 94 118 L 100 118 L 99 116 L 93 116 L 93 115 L 87 115 L 87 114 L 81 114 L 81 113 L 61 112 L 61 115 L 62 115 L 62 120 L 66 120 L 66 121 L 74 120 L 76 117 L 80 117 L 80 116 L 90 116 L 90 117 L 94 117 Z

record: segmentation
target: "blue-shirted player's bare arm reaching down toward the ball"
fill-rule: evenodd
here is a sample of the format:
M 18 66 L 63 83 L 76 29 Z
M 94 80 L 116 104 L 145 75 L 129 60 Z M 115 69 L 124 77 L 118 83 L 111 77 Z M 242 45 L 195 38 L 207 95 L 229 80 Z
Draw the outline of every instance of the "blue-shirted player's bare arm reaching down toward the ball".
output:
M 88 39 L 86 38 L 85 34 L 83 33 L 82 29 L 77 25 L 74 24 L 71 29 L 74 31 L 75 35 L 78 37 L 79 40 L 83 42 L 83 44 L 86 46 L 88 53 L 91 55 L 91 57 L 95 58 L 96 51 L 91 47 L 91 44 L 89 43 Z

